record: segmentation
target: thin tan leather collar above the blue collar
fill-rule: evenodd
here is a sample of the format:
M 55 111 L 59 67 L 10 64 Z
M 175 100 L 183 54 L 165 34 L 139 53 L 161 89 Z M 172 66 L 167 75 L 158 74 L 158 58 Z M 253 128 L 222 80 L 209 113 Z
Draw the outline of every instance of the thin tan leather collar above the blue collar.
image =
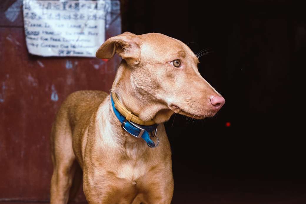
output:
M 134 123 L 140 124 L 140 125 L 154 125 L 154 120 L 149 121 L 143 121 L 138 116 L 132 114 L 131 111 L 128 111 L 119 101 L 116 94 L 114 92 L 111 93 L 111 96 L 113 97 L 114 104 L 116 109 L 125 117 L 126 120 L 132 121 Z

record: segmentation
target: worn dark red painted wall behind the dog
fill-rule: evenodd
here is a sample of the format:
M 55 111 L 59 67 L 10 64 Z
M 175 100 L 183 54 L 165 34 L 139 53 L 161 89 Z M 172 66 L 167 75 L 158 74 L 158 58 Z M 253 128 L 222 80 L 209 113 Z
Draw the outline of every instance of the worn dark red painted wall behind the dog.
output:
M 56 111 L 74 91 L 108 91 L 120 59 L 28 54 L 21 4 L 15 2 L 0 3 L 0 202 L 47 202 L 49 137 Z M 121 33 L 120 14 L 114 12 L 112 18 L 106 39 Z M 79 195 L 76 200 L 84 198 Z

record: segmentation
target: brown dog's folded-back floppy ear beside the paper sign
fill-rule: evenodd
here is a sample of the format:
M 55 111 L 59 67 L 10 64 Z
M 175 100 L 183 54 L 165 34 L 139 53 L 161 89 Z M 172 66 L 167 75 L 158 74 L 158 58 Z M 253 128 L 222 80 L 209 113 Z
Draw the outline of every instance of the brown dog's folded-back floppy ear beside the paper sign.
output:
M 136 65 L 140 60 L 139 41 L 140 39 L 137 35 L 124 32 L 106 40 L 96 52 L 96 57 L 110 59 L 117 53 L 127 63 Z

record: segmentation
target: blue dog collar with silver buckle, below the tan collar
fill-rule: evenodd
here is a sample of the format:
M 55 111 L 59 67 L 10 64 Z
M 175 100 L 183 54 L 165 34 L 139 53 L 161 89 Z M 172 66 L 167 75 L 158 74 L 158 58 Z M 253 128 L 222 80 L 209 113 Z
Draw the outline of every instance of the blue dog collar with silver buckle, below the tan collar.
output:
M 129 134 L 133 135 L 136 138 L 143 138 L 144 141 L 147 142 L 147 145 L 151 148 L 153 147 L 157 147 L 159 144 L 159 139 L 157 142 L 157 145 L 155 145 L 155 143 L 151 140 L 151 137 L 155 137 L 156 133 L 157 133 L 157 125 L 150 125 L 150 126 L 146 126 L 146 125 L 139 125 L 136 123 L 133 123 L 132 121 L 128 121 L 127 119 L 125 119 L 125 117 L 117 110 L 117 108 L 115 108 L 115 104 L 114 104 L 114 100 L 113 97 L 110 94 L 110 99 L 112 101 L 112 106 L 113 106 L 113 110 L 115 115 L 117 116 L 118 120 L 121 122 L 121 127 L 126 130 Z M 153 134 L 154 132 L 154 134 Z M 150 136 L 151 134 L 151 136 Z

